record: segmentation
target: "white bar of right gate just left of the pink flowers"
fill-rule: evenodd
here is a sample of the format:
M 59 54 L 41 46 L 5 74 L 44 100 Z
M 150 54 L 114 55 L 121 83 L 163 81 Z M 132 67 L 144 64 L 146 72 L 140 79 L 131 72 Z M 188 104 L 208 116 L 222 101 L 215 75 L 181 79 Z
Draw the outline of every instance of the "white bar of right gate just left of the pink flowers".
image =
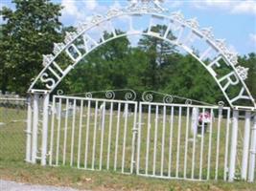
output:
M 195 113 L 193 115 L 193 148 L 192 148 L 192 169 L 191 169 L 191 179 L 194 179 L 195 174 L 195 159 L 196 159 L 196 147 L 197 147 L 197 134 L 198 134 L 198 108 L 195 108 Z

